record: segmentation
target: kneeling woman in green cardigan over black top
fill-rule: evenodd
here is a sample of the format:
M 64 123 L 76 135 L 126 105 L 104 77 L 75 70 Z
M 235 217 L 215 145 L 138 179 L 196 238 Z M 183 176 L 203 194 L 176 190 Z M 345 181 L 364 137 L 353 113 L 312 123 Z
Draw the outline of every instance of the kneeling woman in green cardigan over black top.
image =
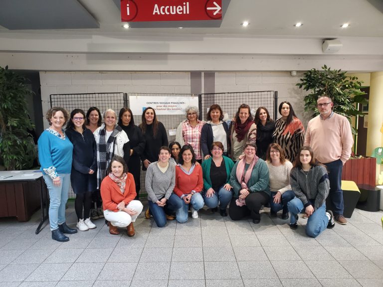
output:
M 203 199 L 212 212 L 217 210 L 219 202 L 220 215 L 227 216 L 226 207 L 232 197 L 230 172 L 234 162 L 229 157 L 223 156 L 223 152 L 223 144 L 213 142 L 212 157 L 202 162 Z

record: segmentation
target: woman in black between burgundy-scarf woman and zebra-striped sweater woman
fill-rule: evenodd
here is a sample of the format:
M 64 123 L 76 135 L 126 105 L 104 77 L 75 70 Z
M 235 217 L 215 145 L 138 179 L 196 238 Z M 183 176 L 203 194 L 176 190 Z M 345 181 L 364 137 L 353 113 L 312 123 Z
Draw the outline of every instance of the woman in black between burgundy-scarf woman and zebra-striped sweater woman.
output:
M 267 157 L 267 148 L 273 142 L 275 123 L 270 118 L 265 107 L 259 107 L 255 112 L 254 123 L 257 125 L 257 154 L 263 160 Z

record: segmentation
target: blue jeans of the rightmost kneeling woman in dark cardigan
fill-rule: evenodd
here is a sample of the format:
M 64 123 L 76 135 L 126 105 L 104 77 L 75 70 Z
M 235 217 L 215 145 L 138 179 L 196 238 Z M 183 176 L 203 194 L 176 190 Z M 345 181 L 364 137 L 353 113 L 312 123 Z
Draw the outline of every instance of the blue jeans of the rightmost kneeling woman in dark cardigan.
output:
M 305 207 L 303 202 L 298 198 L 294 197 L 294 199 L 290 200 L 287 204 L 288 209 L 290 211 L 290 223 L 294 224 L 296 222 L 296 215 L 301 213 Z M 323 230 L 327 228 L 329 223 L 329 218 L 326 215 L 326 203 L 323 203 L 321 207 L 313 212 L 307 220 L 306 225 L 306 234 L 310 237 L 317 237 L 322 233 Z

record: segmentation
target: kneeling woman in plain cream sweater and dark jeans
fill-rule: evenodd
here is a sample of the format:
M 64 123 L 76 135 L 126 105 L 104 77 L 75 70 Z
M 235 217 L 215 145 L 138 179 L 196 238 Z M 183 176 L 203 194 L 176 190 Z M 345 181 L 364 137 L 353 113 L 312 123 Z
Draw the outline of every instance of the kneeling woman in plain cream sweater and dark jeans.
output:
M 276 217 L 277 212 L 282 210 L 282 219 L 286 220 L 289 218 L 287 203 L 295 196 L 290 185 L 293 164 L 285 158 L 285 153 L 278 143 L 269 145 L 266 158 L 270 174 L 270 215 Z

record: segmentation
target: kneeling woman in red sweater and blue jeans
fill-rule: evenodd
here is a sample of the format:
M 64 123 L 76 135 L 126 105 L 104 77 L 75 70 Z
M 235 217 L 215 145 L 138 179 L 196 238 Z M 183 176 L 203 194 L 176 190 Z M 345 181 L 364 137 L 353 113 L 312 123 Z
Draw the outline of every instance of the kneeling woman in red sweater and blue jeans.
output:
M 196 159 L 191 145 L 181 148 L 180 162 L 176 166 L 176 186 L 174 193 L 177 197 L 170 197 L 169 203 L 173 206 L 182 205 L 176 210 L 176 219 L 180 223 L 188 221 L 189 203 L 192 204 L 192 218 L 198 218 L 198 210 L 203 207 L 203 198 L 200 194 L 203 187 L 202 168 L 195 165 Z

